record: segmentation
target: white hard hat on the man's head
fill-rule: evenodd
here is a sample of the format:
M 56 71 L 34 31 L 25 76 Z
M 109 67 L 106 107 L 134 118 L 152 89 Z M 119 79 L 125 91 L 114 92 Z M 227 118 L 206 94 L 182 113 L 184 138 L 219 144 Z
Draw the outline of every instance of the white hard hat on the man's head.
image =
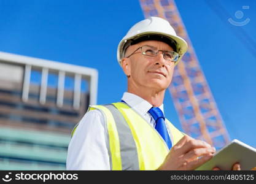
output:
M 176 50 L 174 51 L 179 53 L 179 59 L 176 64 L 187 51 L 187 42 L 177 36 L 173 27 L 167 20 L 160 17 L 149 17 L 132 26 L 126 36 L 120 41 L 117 47 L 118 63 L 121 65 L 126 48 L 128 48 L 134 41 L 136 42 L 136 40 L 141 40 L 142 37 L 144 37 L 142 40 L 152 40 L 153 36 L 159 36 L 159 38 L 161 37 L 163 40 L 165 39 L 165 41 L 168 39 L 169 42 L 174 42 L 174 45 L 176 46 Z M 161 40 L 161 38 L 158 40 Z

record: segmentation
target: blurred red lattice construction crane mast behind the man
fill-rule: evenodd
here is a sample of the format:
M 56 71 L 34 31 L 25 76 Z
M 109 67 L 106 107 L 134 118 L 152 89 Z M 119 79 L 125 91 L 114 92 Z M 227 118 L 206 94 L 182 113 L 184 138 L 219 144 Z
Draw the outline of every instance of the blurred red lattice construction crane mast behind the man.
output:
M 217 149 L 230 141 L 211 90 L 174 0 L 140 0 L 145 17 L 157 16 L 171 23 L 188 43 L 188 51 L 174 70 L 169 91 L 185 133 L 205 140 Z

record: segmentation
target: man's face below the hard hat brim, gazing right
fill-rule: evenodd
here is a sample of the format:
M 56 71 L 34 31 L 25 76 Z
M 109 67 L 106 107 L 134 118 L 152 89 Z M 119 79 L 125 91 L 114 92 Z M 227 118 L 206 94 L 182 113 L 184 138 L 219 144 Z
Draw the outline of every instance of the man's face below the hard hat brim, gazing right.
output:
M 157 40 L 147 40 L 131 45 L 126 50 L 128 56 L 137 48 L 149 45 L 157 48 L 157 50 L 173 50 L 168 44 Z M 136 89 L 152 88 L 156 91 L 162 91 L 168 88 L 171 83 L 174 71 L 174 62 L 163 58 L 163 53 L 159 52 L 157 56 L 146 56 L 141 54 L 141 49 L 124 58 L 122 67 L 128 76 L 128 85 Z

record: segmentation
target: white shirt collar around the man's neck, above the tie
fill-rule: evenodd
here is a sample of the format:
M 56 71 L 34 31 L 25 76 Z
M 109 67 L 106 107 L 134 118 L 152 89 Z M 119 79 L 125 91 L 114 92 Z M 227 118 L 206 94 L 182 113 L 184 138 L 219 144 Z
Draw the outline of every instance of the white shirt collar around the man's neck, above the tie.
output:
M 151 109 L 151 107 L 153 107 L 153 105 L 151 105 L 148 101 L 145 101 L 143 98 L 133 93 L 123 93 L 122 100 L 125 101 L 126 104 L 130 105 L 131 108 L 133 108 L 136 112 L 143 116 L 149 111 L 149 109 Z M 163 112 L 163 104 L 161 104 L 159 108 Z

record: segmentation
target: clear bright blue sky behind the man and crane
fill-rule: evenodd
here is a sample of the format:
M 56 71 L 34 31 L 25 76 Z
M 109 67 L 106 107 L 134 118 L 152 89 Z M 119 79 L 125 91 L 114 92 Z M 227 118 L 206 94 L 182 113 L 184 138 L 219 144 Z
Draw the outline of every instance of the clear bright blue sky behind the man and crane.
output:
M 256 147 L 256 1 L 212 2 L 220 6 L 176 4 L 231 139 Z M 98 69 L 98 104 L 119 101 L 126 91 L 116 51 L 144 19 L 139 1 L 2 0 L 0 16 L 0 51 Z M 228 18 L 250 21 L 235 26 Z M 168 93 L 165 113 L 181 128 Z

